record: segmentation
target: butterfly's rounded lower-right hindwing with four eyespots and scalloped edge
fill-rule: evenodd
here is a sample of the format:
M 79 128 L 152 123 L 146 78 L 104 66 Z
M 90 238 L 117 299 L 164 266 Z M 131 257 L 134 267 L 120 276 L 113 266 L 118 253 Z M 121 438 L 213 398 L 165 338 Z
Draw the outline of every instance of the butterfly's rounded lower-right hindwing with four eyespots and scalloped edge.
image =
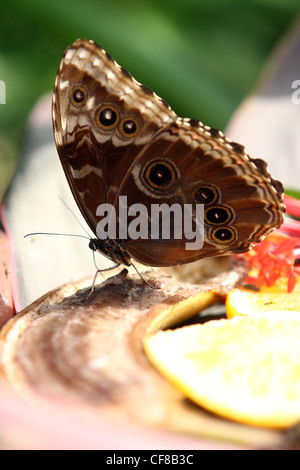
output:
M 145 206 L 149 215 L 154 206 L 166 204 L 160 224 L 169 224 L 170 237 L 126 243 L 133 258 L 152 266 L 247 251 L 283 221 L 283 188 L 266 163 L 250 158 L 220 131 L 189 119 L 178 118 L 151 140 L 127 172 L 119 194 L 127 196 L 129 207 L 136 202 Z M 197 221 L 199 205 L 203 218 Z M 171 206 L 177 211 L 177 227 L 180 217 L 182 221 L 178 238 Z M 185 226 L 185 208 L 192 230 Z M 157 213 L 152 223 L 158 223 Z M 149 223 L 149 234 L 150 228 Z

